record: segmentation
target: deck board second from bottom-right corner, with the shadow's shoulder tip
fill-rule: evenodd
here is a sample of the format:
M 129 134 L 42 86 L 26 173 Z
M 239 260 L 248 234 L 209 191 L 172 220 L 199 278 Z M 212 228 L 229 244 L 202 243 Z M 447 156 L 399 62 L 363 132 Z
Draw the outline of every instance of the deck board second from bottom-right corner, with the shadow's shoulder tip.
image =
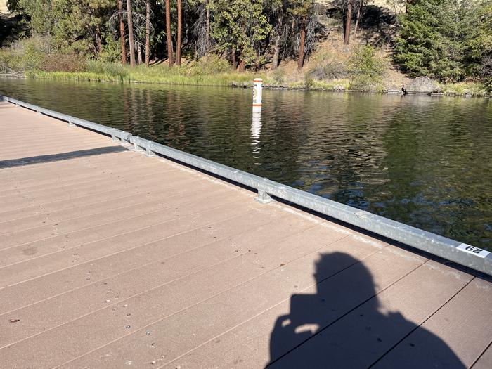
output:
M 384 357 L 376 368 L 470 368 L 491 343 L 492 283 L 475 278 L 437 311 L 396 349 Z M 433 332 L 444 344 L 436 345 Z M 448 351 L 459 364 L 449 361 Z

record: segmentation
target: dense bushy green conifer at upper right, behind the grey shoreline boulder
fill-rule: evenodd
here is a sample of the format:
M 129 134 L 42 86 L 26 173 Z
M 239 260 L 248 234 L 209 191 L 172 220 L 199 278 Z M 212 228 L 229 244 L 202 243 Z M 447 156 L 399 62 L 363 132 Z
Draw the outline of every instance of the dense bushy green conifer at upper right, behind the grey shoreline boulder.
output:
M 400 18 L 396 62 L 411 76 L 427 75 L 444 82 L 477 75 L 481 56 L 473 56 L 470 48 L 482 30 L 479 25 L 484 24 L 480 9 L 484 4 L 479 1 L 416 0 L 408 4 Z

